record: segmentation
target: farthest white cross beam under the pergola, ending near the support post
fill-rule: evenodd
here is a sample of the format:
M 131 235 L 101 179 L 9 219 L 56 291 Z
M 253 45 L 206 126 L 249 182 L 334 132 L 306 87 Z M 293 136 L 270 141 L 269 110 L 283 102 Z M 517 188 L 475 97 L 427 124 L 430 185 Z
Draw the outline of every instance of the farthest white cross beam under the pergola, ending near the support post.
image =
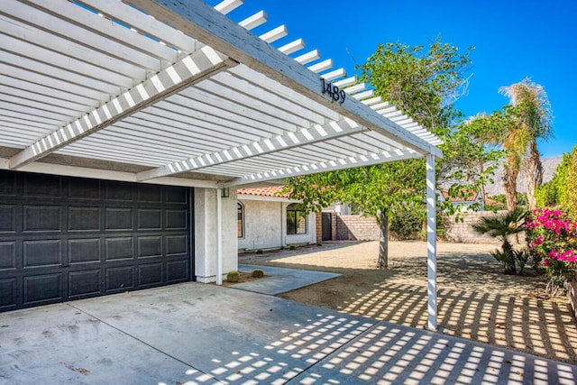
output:
M 417 151 L 382 151 L 373 152 L 366 155 L 357 155 L 355 157 L 327 160 L 323 162 L 304 164 L 286 169 L 269 170 L 258 174 L 246 175 L 243 178 L 237 178 L 230 182 L 219 183 L 221 188 L 239 187 L 252 183 L 270 182 L 301 175 L 316 174 L 334 170 L 352 169 L 355 167 L 372 166 L 375 164 L 385 163 L 388 161 L 408 160 L 422 158 L 423 156 Z

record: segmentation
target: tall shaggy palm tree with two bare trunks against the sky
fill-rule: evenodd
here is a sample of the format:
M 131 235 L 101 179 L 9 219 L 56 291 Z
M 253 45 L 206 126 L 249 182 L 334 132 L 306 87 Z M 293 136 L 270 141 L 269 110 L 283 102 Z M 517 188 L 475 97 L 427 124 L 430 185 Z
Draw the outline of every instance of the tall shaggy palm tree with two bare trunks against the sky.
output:
M 501 87 L 499 92 L 509 97 L 513 107 L 513 122 L 503 142 L 503 148 L 507 151 L 503 170 L 507 208 L 513 211 L 517 206 L 517 175 L 524 168 L 527 173 L 527 201 L 529 209 L 534 210 L 535 190 L 543 182 L 537 141 L 547 140 L 553 135 L 551 105 L 545 88 L 529 78 Z

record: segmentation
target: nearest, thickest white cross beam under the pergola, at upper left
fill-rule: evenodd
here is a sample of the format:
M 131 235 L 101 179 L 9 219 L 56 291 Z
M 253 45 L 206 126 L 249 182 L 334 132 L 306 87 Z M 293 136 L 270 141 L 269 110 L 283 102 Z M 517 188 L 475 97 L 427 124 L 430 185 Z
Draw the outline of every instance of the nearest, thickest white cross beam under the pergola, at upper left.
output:
M 210 77 L 216 72 L 236 65 L 210 47 L 186 56 L 176 64 L 129 89 L 122 95 L 83 115 L 73 123 L 60 127 L 10 159 L 11 169 L 18 169 L 38 160 L 65 145 L 133 115 L 142 108 L 166 96 Z

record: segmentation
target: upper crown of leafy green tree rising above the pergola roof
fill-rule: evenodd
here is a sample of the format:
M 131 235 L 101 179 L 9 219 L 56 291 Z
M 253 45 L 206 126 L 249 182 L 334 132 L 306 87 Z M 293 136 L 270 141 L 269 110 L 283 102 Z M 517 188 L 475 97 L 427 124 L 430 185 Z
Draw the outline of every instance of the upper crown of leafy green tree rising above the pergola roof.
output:
M 468 86 L 473 47 L 460 54 L 457 47 L 437 39 L 424 49 L 422 45 L 379 44 L 359 67 L 360 79 L 418 123 L 446 136 L 461 116 L 454 103 Z

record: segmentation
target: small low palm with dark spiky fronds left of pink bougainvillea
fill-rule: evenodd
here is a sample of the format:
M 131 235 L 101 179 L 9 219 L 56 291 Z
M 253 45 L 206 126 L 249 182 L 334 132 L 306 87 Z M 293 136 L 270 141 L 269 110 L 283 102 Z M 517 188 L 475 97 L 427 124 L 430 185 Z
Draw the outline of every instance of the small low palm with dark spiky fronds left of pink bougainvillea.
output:
M 515 252 L 513 245 L 508 242 L 508 236 L 518 234 L 525 230 L 525 217 L 527 212 L 516 207 L 513 211 L 497 216 L 483 216 L 481 223 L 473 225 L 473 229 L 479 234 L 489 234 L 501 242 L 502 252 L 493 253 L 499 261 L 505 264 L 505 274 L 516 274 Z

